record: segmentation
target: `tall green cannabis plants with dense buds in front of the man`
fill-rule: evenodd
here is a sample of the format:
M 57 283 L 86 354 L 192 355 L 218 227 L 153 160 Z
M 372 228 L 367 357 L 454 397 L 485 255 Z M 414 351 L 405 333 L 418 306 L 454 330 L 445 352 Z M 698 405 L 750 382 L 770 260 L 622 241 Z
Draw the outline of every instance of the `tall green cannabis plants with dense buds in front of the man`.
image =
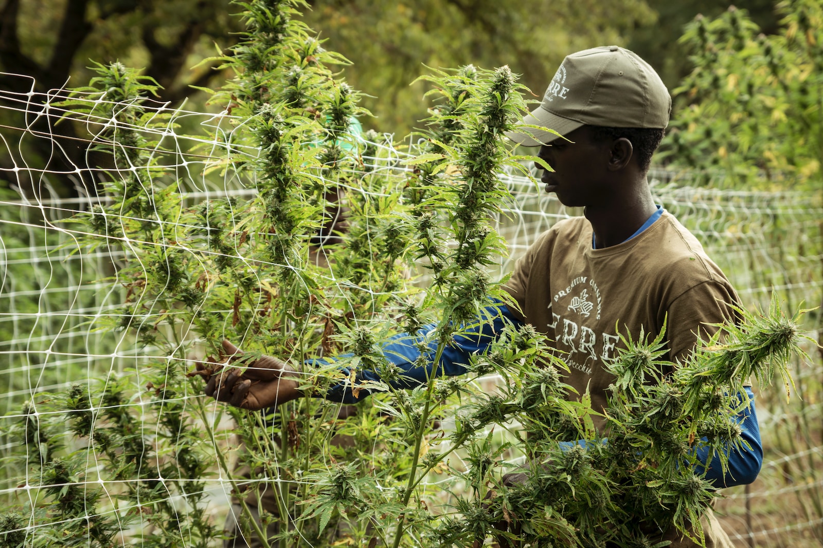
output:
M 670 376 L 663 334 L 625 340 L 609 440 L 586 394 L 567 400 L 565 363 L 530 326 L 509 325 L 467 375 L 444 378 L 438 365 L 396 388 L 388 343 L 419 348 L 428 371 L 508 300 L 487 267 L 506 253 L 500 175 L 528 175 L 534 161 L 502 139 L 526 108 L 522 89 L 508 67 L 433 71 L 422 150 L 399 162 L 391 143 L 357 135 L 368 113 L 329 67 L 345 60 L 296 19 L 304 2 L 239 6 L 247 32 L 221 54 L 235 76 L 212 92 L 221 122 L 201 142 L 223 150 L 204 177 L 231 173 L 248 199 L 185 194 L 164 159 L 202 150 L 165 148 L 175 114 L 151 108 L 156 84 L 137 71 L 99 65 L 64 105 L 112 158 L 111 203 L 65 229 L 124 257 L 119 311 L 89 327 L 138 352 L 132 368 L 39 394 L 14 417 L 26 474 L 2 516 L 4 546 L 214 546 L 213 486 L 238 509 L 226 534 L 267 547 L 479 546 L 492 535 L 644 546 L 672 525 L 699 540 L 714 492 L 695 449 L 742 443 L 729 418 L 746 405 L 741 384 L 786 375 L 796 318 L 747 315 Z M 200 376 L 228 359 L 224 339 L 243 349 L 239 366 L 290 361 L 305 398 L 265 412 L 207 398 Z M 499 394 L 477 394 L 490 373 L 505 380 Z M 357 411 L 313 397 L 336 391 Z M 514 458 L 528 467 L 513 484 L 503 472 Z

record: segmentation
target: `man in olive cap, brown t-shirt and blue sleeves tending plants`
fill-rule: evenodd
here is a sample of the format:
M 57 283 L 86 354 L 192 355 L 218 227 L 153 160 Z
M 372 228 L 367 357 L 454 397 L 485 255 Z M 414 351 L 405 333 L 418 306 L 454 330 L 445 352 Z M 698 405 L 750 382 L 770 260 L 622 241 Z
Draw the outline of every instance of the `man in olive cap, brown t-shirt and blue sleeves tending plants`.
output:
M 406 375 L 393 385 L 425 383 L 433 371 L 461 375 L 469 356 L 482 352 L 504 322 L 528 323 L 564 352 L 570 366 L 565 382 L 579 394 L 588 389 L 599 411 L 613 380 L 604 363 L 616 356 L 621 335 L 637 340 L 642 330 L 655 337 L 665 325 L 665 358 L 677 362 L 717 324 L 736 320 L 734 288 L 695 237 L 654 203 L 649 190 L 646 173 L 671 104 L 658 74 L 625 48 L 591 48 L 565 58 L 542 104 L 508 136 L 520 145 L 540 146 L 538 157 L 551 166 L 542 174 L 546 191 L 564 205 L 584 207 L 584 216 L 556 223 L 519 258 L 505 286 L 519 310 L 500 306 L 501 317 L 491 317 L 486 338 L 455 338 L 438 366 L 425 368 L 416 366 L 416 337 L 402 334 L 388 344 L 387 359 Z M 227 342 L 224 350 L 228 356 L 238 352 Z M 249 409 L 301 395 L 289 375 L 295 371 L 291 366 L 263 360 L 253 364 L 257 369 L 212 375 L 207 394 Z M 373 371 L 357 375 L 379 380 Z M 760 471 L 760 434 L 753 394 L 746 391 L 752 403 L 737 418 L 751 450 L 732 450 L 726 473 L 709 468 L 706 477 L 718 487 L 749 483 Z M 323 397 L 356 403 L 365 394 L 358 389 L 358 398 L 344 383 Z M 595 426 L 603 423 L 601 418 Z M 708 452 L 703 453 L 698 451 L 705 463 Z M 706 546 L 731 546 L 713 514 L 704 517 L 703 526 Z M 671 546 L 694 546 L 677 531 L 659 536 Z

